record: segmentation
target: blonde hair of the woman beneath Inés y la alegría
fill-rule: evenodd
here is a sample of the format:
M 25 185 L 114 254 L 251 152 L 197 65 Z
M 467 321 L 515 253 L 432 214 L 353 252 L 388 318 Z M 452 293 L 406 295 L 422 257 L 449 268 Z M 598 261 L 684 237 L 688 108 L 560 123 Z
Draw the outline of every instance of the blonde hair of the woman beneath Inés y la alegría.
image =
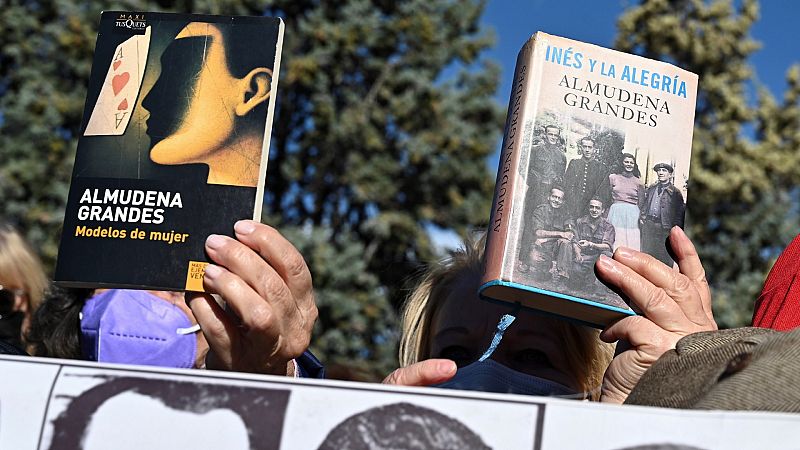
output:
M 406 299 L 401 312 L 400 366 L 405 367 L 431 357 L 431 322 L 444 303 L 453 282 L 463 274 L 480 277 L 483 271 L 485 235 L 468 239 L 450 257 L 432 264 Z M 599 399 L 597 387 L 613 357 L 613 346 L 600 341 L 599 331 L 563 320 L 552 320 L 564 343 L 567 363 L 578 381 L 578 388 Z

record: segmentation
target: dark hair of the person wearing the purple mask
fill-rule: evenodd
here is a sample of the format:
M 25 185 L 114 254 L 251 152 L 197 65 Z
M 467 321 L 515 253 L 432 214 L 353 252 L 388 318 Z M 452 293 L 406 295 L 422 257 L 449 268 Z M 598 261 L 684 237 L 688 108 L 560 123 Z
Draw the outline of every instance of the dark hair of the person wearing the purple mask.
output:
M 47 290 L 25 334 L 34 356 L 83 359 L 79 316 L 93 291 L 58 286 L 51 286 Z

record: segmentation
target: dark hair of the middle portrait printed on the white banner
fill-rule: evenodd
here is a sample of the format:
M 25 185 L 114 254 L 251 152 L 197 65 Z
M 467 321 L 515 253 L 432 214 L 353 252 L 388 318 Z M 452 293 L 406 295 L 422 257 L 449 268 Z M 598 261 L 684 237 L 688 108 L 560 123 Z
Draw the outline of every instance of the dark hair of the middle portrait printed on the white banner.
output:
M 318 450 L 489 449 L 474 431 L 432 409 L 394 403 L 348 417 L 328 433 Z

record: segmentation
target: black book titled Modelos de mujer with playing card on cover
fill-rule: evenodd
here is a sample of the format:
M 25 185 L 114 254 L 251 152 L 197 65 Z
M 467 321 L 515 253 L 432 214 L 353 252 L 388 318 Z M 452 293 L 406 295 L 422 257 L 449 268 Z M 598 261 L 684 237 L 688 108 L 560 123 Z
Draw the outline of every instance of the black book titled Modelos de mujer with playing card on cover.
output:
M 55 280 L 202 291 L 209 234 L 261 218 L 283 22 L 103 12 Z

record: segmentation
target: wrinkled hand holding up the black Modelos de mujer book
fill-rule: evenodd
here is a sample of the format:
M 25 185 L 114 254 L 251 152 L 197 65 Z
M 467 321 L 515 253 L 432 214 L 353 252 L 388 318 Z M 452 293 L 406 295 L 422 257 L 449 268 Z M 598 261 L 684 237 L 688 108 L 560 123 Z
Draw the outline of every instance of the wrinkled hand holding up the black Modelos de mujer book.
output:
M 222 296 L 187 293 L 208 340 L 209 369 L 291 375 L 293 358 L 311 340 L 317 307 L 311 273 L 297 249 L 274 228 L 241 220 L 236 239 L 211 235 L 203 287 Z M 237 240 L 238 239 L 238 240 Z

